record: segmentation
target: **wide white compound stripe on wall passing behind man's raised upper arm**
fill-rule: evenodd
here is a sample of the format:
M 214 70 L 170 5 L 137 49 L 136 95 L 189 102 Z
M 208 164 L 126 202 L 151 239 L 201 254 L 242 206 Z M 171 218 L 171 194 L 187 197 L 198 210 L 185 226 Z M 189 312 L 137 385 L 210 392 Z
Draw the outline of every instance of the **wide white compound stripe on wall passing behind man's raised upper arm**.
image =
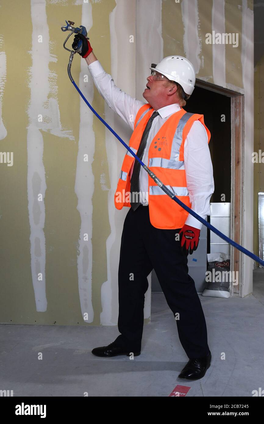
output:
M 124 21 L 124 17 L 131 16 L 131 11 L 133 11 L 134 7 L 135 4 L 133 2 L 116 0 L 116 6 L 109 14 L 111 75 L 114 79 L 114 83 L 122 87 L 124 91 L 127 91 L 127 84 L 131 84 L 133 90 L 133 80 L 132 78 L 127 78 L 128 74 L 126 73 L 126 70 L 130 72 L 130 67 L 132 67 L 131 60 L 133 60 L 133 53 L 131 52 L 131 45 L 133 47 L 133 43 L 129 42 L 129 37 L 133 32 L 131 32 L 131 27 L 129 27 L 129 25 L 119 25 L 118 23 Z M 120 54 L 121 56 L 119 57 Z M 118 66 L 118 64 L 122 65 Z M 106 122 L 111 123 L 111 127 L 122 139 L 130 139 L 131 128 L 120 125 L 116 113 L 110 109 L 106 103 L 105 119 Z M 113 135 L 107 128 L 105 128 L 105 139 L 111 187 L 108 192 L 110 234 L 106 240 L 107 280 L 103 282 L 101 286 L 102 312 L 100 314 L 100 323 L 102 325 L 116 325 L 118 320 L 117 264 L 119 263 L 122 223 L 128 211 L 127 208 L 123 208 L 122 210 L 117 210 L 115 208 L 114 193 L 117 187 L 122 161 L 125 156 L 125 150 L 124 147 L 113 138 Z

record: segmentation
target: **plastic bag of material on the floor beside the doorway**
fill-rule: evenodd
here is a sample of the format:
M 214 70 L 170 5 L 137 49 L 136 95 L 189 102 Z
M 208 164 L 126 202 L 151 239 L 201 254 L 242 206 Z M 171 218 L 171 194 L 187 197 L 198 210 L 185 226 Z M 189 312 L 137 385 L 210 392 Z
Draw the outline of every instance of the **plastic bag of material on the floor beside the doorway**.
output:
M 206 288 L 203 296 L 230 297 L 230 255 L 223 252 L 207 254 Z

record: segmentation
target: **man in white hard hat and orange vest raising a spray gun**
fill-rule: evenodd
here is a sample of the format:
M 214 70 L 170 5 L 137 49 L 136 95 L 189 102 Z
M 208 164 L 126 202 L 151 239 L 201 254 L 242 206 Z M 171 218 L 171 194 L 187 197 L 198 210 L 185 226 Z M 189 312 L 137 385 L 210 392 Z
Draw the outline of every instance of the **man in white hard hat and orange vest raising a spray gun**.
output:
M 89 41 L 84 36 L 76 34 L 72 47 L 76 48 L 80 38 L 83 41 L 83 45 L 79 54 L 86 60 L 94 84 L 108 106 L 117 112 L 131 126 L 134 132 L 136 131 L 136 126 L 138 124 L 139 126 L 141 125 L 140 120 L 142 119 L 145 129 L 141 129 L 140 137 L 142 136 L 142 139 L 139 148 L 134 150 L 137 156 L 142 159 L 142 162 L 150 166 L 148 164 L 149 149 L 153 148 L 152 141 L 158 131 L 164 128 L 164 123 L 171 118 L 171 125 L 173 122 L 172 118 L 174 119 L 177 113 L 183 115 L 183 119 L 186 118 L 186 122 L 189 117 L 191 118 L 191 115 L 194 115 L 186 113 L 181 107 L 186 104 L 186 100 L 194 88 L 195 73 L 192 64 L 181 56 L 168 56 L 156 65 L 156 68 L 150 68 L 152 74 L 147 78 L 147 88 L 143 93 L 147 103 L 143 103 L 131 98 L 130 95 L 115 86 L 113 78 L 103 70 L 102 65 L 92 52 Z M 179 60 L 175 61 L 175 59 Z M 177 64 L 175 72 L 171 71 L 170 73 L 168 71 L 171 66 L 168 67 L 168 63 L 169 65 L 172 64 L 172 68 L 173 64 Z M 166 68 L 164 68 L 164 65 Z M 185 78 L 186 69 L 187 73 L 189 73 L 186 84 L 183 79 L 177 80 L 179 70 L 182 67 L 184 70 L 182 74 L 185 75 Z M 168 78 L 170 75 L 171 78 Z M 181 81 L 181 85 L 177 81 Z M 149 105 L 151 106 L 150 112 L 148 112 Z M 151 116 L 146 112 L 151 114 Z M 179 189 L 186 190 L 189 195 L 188 199 L 191 203 L 191 209 L 206 219 L 206 215 L 211 213 L 209 202 L 211 194 L 214 192 L 213 169 L 208 148 L 208 135 L 210 133 L 203 123 L 203 115 L 197 116 L 200 117 L 199 120 L 197 117 L 193 117 L 196 119 L 193 123 L 190 119 L 191 126 L 190 128 L 188 127 L 186 138 L 183 140 L 184 160 L 179 162 L 179 155 L 173 158 L 175 161 L 178 159 L 177 163 L 179 165 L 177 166 L 181 165 L 179 169 L 185 170 L 186 187 L 172 187 L 171 185 L 168 187 L 176 189 L 177 192 Z M 133 120 L 131 120 L 131 117 L 133 117 Z M 137 121 L 136 126 L 135 120 Z M 181 120 L 179 123 L 181 123 Z M 175 139 L 173 139 L 173 142 L 176 143 Z M 163 143 L 159 142 L 159 145 Z M 154 148 L 157 146 L 158 144 Z M 160 151 L 161 147 L 158 150 Z M 130 154 L 130 156 L 132 155 Z M 173 164 L 175 163 L 173 162 Z M 167 165 L 167 169 L 164 169 L 163 172 L 168 172 L 168 168 L 174 166 Z M 156 221 L 155 226 L 153 226 L 154 220 L 162 218 L 163 212 L 157 208 L 154 211 L 153 204 L 151 206 L 153 212 L 150 214 L 148 174 L 136 160 L 134 160 L 131 168 L 128 167 L 128 170 L 128 176 L 126 175 L 127 173 L 123 173 L 125 174 L 125 179 L 129 178 L 131 183 L 131 195 L 132 187 L 133 191 L 138 187 L 139 189 L 137 190 L 139 190 L 141 196 L 140 200 L 137 201 L 132 201 L 131 197 L 131 202 L 125 204 L 125 206 L 131 207 L 124 222 L 118 272 L 118 329 L 121 334 L 108 346 L 95 348 L 92 353 L 100 357 L 112 357 L 122 354 L 128 356 L 130 352 L 133 352 L 134 356 L 140 354 L 144 322 L 144 301 L 148 287 L 147 276 L 154 268 L 167 303 L 175 315 L 181 344 L 189 357 L 189 362 L 183 368 L 179 377 L 188 380 L 202 378 L 210 366 L 211 352 L 207 344 L 206 322 L 200 299 L 195 289 L 195 282 L 188 274 L 187 266 L 187 256 L 189 253 L 192 254 L 197 248 L 202 224 L 187 213 L 187 218 L 182 217 L 184 218 L 183 226 L 178 225 L 176 228 L 166 225 L 162 226 L 162 222 L 157 225 Z M 120 184 L 122 184 L 122 179 L 124 178 L 121 171 Z M 178 185 L 184 186 L 184 184 Z M 152 190 L 155 189 L 155 187 L 151 188 Z M 161 199 L 158 202 L 164 202 L 165 198 L 168 198 L 171 202 L 169 206 L 171 208 L 175 202 L 164 192 L 162 194 L 164 194 L 162 198 L 159 195 L 159 198 L 156 197 L 156 199 Z M 177 193 L 175 194 L 177 195 Z M 158 204 L 160 205 L 161 203 Z M 169 207 L 164 207 L 164 220 L 166 220 L 168 215 Z M 121 209 L 120 207 L 117 208 Z M 184 212 L 184 209 L 181 208 L 181 212 L 178 213 L 180 215 L 180 213 L 183 214 L 186 211 Z M 180 222 L 180 220 L 175 222 Z M 176 240 L 175 234 L 180 234 L 180 240 Z M 129 279 L 131 272 L 133 272 L 134 276 L 133 281 Z

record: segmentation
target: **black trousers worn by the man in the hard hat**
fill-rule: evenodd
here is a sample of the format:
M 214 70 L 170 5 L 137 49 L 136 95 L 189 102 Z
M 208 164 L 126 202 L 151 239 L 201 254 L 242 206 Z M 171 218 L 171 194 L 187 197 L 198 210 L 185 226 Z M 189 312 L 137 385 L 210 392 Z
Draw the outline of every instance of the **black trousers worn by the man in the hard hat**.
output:
M 150 223 L 149 207 L 132 208 L 125 217 L 118 270 L 119 316 L 121 333 L 115 342 L 131 352 L 141 350 L 147 276 L 155 270 L 167 304 L 173 312 L 178 335 L 189 358 L 209 352 L 206 321 L 188 274 L 188 252 L 181 252 L 175 240 L 180 229 L 158 229 Z M 177 315 L 175 315 L 177 314 Z

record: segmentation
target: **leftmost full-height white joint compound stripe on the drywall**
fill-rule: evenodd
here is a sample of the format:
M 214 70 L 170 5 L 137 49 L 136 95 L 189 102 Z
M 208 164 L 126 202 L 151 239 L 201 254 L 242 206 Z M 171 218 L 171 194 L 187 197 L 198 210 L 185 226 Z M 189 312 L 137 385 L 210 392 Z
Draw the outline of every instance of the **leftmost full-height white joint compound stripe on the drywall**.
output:
M 31 92 L 28 105 L 28 215 L 30 224 L 30 253 L 31 274 L 35 293 L 37 312 L 47 310 L 46 281 L 45 281 L 45 170 L 43 165 L 43 137 L 42 124 L 37 116 L 46 115 L 43 104 L 49 94 L 49 32 L 47 27 L 46 2 L 44 0 L 31 0 L 32 20 L 32 66 L 30 70 L 29 87 Z M 38 36 L 42 35 L 43 42 L 38 42 Z M 38 201 L 38 194 L 42 194 L 42 201 Z M 42 281 L 38 280 L 42 273 Z

